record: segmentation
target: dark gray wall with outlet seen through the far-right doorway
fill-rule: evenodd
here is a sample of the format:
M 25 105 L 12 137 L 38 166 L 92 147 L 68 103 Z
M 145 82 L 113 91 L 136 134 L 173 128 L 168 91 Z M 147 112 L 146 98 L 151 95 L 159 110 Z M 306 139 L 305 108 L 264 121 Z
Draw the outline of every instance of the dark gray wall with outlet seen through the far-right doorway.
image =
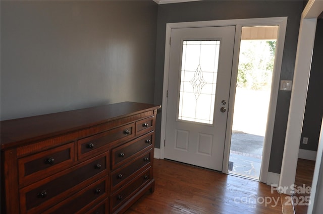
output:
M 317 20 L 300 149 L 317 151 L 323 116 L 323 19 Z M 302 144 L 303 137 L 308 143 Z

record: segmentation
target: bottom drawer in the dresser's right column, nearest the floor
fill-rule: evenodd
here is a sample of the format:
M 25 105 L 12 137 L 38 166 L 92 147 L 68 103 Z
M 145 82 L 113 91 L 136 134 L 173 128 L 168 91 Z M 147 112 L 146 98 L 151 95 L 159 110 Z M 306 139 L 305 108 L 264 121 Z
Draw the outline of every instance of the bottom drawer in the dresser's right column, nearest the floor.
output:
M 146 185 L 152 178 L 152 168 L 149 167 L 147 170 L 138 175 L 131 181 L 127 186 L 121 188 L 118 192 L 112 194 L 110 200 L 111 213 L 113 213 L 118 207 L 122 205 L 124 201 L 131 198 L 136 192 Z

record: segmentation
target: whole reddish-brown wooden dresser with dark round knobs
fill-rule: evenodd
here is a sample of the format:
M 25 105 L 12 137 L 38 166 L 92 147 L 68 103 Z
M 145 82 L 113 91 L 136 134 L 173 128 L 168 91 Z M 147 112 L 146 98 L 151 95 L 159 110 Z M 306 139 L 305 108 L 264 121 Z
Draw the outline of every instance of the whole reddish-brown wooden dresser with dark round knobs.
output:
M 123 213 L 154 191 L 160 106 L 124 102 L 1 121 L 1 213 Z

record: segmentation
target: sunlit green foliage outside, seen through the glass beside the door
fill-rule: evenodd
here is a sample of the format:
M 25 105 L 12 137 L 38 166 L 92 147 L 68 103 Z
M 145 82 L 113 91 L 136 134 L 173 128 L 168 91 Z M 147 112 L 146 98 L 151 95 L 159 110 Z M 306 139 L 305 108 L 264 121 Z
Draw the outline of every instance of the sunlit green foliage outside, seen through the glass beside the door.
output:
M 276 40 L 242 40 L 237 87 L 265 90 L 271 87 Z

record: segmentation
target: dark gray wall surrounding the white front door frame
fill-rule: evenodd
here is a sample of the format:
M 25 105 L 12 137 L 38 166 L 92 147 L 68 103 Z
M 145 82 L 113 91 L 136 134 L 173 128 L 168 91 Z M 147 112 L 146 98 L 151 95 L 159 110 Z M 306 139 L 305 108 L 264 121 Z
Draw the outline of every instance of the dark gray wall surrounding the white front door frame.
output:
M 282 80 L 292 80 L 295 65 L 302 1 L 198 1 L 158 6 L 155 96 L 154 102 L 163 100 L 166 23 L 206 20 L 249 19 L 287 16 L 287 31 L 281 71 Z M 277 113 L 269 171 L 280 173 L 283 159 L 286 126 L 291 93 L 278 93 Z M 165 108 L 165 107 L 164 107 Z M 160 114 L 157 115 L 157 130 Z M 156 141 L 160 133 L 156 133 Z M 156 147 L 160 142 L 156 142 Z

